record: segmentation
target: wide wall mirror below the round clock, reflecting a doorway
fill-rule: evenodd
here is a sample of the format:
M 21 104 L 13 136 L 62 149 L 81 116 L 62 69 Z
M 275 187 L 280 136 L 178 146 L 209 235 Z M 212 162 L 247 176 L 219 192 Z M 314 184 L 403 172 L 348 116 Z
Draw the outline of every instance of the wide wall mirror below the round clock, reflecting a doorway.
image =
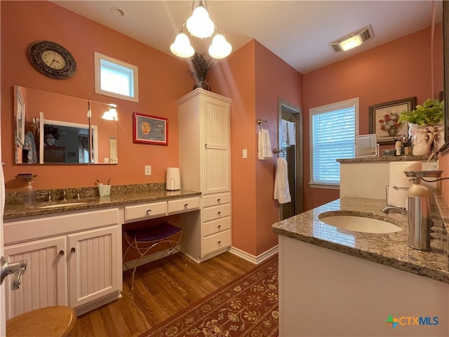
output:
M 14 95 L 16 164 L 118 163 L 108 104 L 22 86 Z

